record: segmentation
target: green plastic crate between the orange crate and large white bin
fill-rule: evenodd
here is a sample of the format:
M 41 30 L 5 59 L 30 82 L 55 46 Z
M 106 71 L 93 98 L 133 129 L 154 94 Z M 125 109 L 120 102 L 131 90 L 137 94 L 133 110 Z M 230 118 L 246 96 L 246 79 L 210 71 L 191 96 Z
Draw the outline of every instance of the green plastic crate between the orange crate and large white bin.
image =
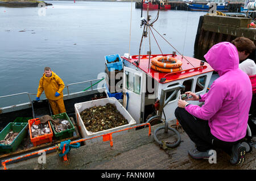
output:
M 53 115 L 51 116 L 52 119 L 56 119 L 56 118 L 59 118 L 59 119 L 65 119 L 65 120 L 68 120 L 69 121 L 69 124 L 71 125 L 71 128 L 70 129 L 67 129 L 65 131 L 62 131 L 62 132 L 56 132 L 54 127 L 53 127 L 53 123 L 50 121 L 50 124 L 51 124 L 51 127 L 52 127 L 52 131 L 54 132 L 54 135 L 57 139 L 61 140 L 61 139 L 64 139 L 64 138 L 68 138 L 68 137 L 72 137 L 73 136 L 73 132 L 75 131 L 75 127 L 74 125 L 72 124 L 72 121 L 69 119 L 67 113 L 60 113 L 59 115 Z

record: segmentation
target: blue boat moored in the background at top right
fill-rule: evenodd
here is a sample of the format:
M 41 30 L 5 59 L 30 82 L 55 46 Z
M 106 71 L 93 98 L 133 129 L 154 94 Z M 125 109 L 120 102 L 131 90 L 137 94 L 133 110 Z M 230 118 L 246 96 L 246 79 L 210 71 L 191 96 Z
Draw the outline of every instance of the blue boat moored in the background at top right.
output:
M 217 11 L 228 12 L 228 2 L 221 0 L 210 0 L 206 5 L 192 3 L 188 7 L 191 11 L 209 11 L 209 3 L 216 3 Z

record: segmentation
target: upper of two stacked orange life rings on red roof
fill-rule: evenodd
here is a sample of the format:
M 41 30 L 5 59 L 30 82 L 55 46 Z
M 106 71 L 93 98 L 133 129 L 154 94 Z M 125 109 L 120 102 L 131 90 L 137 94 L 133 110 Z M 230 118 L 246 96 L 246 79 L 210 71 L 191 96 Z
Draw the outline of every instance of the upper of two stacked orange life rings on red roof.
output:
M 180 68 L 182 62 L 174 57 L 159 56 L 152 58 L 151 63 L 164 69 Z

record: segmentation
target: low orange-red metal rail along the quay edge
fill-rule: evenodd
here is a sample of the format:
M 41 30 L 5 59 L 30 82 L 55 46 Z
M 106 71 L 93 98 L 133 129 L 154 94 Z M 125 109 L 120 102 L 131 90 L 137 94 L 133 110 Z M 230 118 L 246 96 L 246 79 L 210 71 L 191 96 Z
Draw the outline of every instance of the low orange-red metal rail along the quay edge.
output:
M 118 131 L 115 131 L 115 132 L 110 132 L 110 133 L 106 133 L 106 134 L 100 134 L 98 136 L 89 137 L 89 138 L 81 138 L 80 140 L 72 141 L 70 144 L 72 145 L 72 144 L 76 144 L 77 142 L 82 142 L 82 141 L 86 141 L 86 140 L 92 140 L 93 138 L 97 138 L 97 137 L 101 137 L 102 136 L 103 141 L 110 141 L 110 146 L 112 147 L 113 146 L 113 139 L 112 139 L 112 134 L 113 133 L 117 133 L 117 132 L 121 132 L 121 131 L 126 131 L 128 129 L 138 128 L 138 127 L 142 127 L 142 126 L 145 126 L 145 125 L 148 125 L 148 136 L 150 136 L 151 135 L 151 125 L 150 125 L 150 123 L 142 123 L 142 124 L 135 125 L 134 127 L 121 129 L 121 130 L 118 130 Z M 63 153 L 65 152 L 65 145 L 66 144 L 64 144 L 64 146 L 63 146 Z M 18 162 L 19 159 L 28 158 L 28 157 L 31 157 L 32 155 L 36 155 L 36 154 L 42 153 L 42 151 L 47 152 L 47 151 L 54 150 L 54 149 L 56 150 L 58 148 L 59 148 L 59 146 L 53 146 L 51 148 L 47 148 L 47 149 L 43 149 L 43 150 L 39 150 L 39 151 L 35 151 L 35 152 L 32 152 L 32 153 L 29 153 L 29 154 L 26 154 L 26 155 L 22 155 L 20 157 L 7 159 L 5 161 L 2 161 L 1 165 L 3 167 L 3 170 L 7 170 L 6 163 L 10 163 L 10 162 L 14 162 L 14 161 Z M 64 161 L 68 161 L 67 155 L 64 155 Z

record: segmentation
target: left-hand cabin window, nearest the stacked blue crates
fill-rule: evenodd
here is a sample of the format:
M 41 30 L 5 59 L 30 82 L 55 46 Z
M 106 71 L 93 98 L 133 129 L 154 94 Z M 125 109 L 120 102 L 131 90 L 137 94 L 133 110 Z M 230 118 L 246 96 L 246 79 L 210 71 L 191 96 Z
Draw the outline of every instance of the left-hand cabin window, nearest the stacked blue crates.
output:
M 141 77 L 129 71 L 125 71 L 126 87 L 135 94 L 141 94 Z

